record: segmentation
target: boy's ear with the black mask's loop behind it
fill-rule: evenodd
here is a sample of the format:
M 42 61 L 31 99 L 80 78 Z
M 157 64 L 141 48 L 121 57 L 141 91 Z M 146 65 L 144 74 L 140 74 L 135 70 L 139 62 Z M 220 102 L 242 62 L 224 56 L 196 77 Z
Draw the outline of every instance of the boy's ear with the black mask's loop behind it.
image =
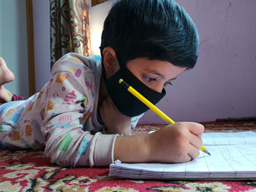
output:
M 106 76 L 107 78 L 111 77 L 120 69 L 120 66 L 116 58 L 116 52 L 115 50 L 113 50 L 112 47 L 105 47 L 102 50 L 102 57 L 103 57 L 103 64 L 105 67 L 105 71 L 106 71 Z

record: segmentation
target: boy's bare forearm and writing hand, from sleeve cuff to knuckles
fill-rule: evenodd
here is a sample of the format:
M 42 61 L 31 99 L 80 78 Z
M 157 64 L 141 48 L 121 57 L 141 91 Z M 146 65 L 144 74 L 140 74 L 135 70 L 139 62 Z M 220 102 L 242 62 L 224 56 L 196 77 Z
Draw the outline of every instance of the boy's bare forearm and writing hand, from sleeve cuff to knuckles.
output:
M 199 155 L 204 127 L 199 123 L 175 123 L 152 134 L 117 137 L 114 160 L 122 162 L 190 161 Z

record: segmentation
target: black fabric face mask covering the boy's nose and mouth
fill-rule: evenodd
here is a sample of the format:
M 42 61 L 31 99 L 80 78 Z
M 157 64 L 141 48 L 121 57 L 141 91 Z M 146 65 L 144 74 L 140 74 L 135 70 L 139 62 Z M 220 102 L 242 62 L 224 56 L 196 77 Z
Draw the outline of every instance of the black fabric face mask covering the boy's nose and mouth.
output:
M 114 104 L 121 113 L 131 118 L 146 112 L 149 110 L 149 108 L 146 106 L 146 104 L 143 104 L 142 101 L 133 96 L 132 93 L 129 93 L 129 91 L 123 88 L 118 82 L 119 79 L 123 79 L 153 104 L 157 104 L 157 102 L 160 101 L 163 96 L 165 96 L 165 89 L 162 90 L 162 93 L 159 93 L 151 88 L 148 88 L 143 84 L 143 82 L 140 82 L 140 80 L 138 80 L 138 78 L 135 77 L 135 75 L 132 74 L 132 72 L 130 72 L 126 66 L 122 64 L 120 65 L 118 72 L 113 74 L 108 79 L 106 79 L 105 76 L 104 66 L 102 71 L 110 98 L 113 100 Z

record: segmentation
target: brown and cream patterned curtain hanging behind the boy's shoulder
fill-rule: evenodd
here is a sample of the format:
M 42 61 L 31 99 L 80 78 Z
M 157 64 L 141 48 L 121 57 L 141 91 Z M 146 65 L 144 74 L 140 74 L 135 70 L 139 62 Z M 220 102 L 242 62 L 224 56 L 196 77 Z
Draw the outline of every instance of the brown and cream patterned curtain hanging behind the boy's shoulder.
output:
M 89 0 L 50 0 L 50 68 L 62 55 L 90 55 Z

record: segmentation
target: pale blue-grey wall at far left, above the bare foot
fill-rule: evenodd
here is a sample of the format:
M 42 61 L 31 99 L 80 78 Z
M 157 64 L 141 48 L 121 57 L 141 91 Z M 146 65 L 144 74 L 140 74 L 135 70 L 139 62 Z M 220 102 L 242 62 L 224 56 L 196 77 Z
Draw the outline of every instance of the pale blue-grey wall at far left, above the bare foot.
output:
M 0 2 L 0 55 L 15 74 L 5 87 L 12 93 L 29 96 L 26 0 Z

